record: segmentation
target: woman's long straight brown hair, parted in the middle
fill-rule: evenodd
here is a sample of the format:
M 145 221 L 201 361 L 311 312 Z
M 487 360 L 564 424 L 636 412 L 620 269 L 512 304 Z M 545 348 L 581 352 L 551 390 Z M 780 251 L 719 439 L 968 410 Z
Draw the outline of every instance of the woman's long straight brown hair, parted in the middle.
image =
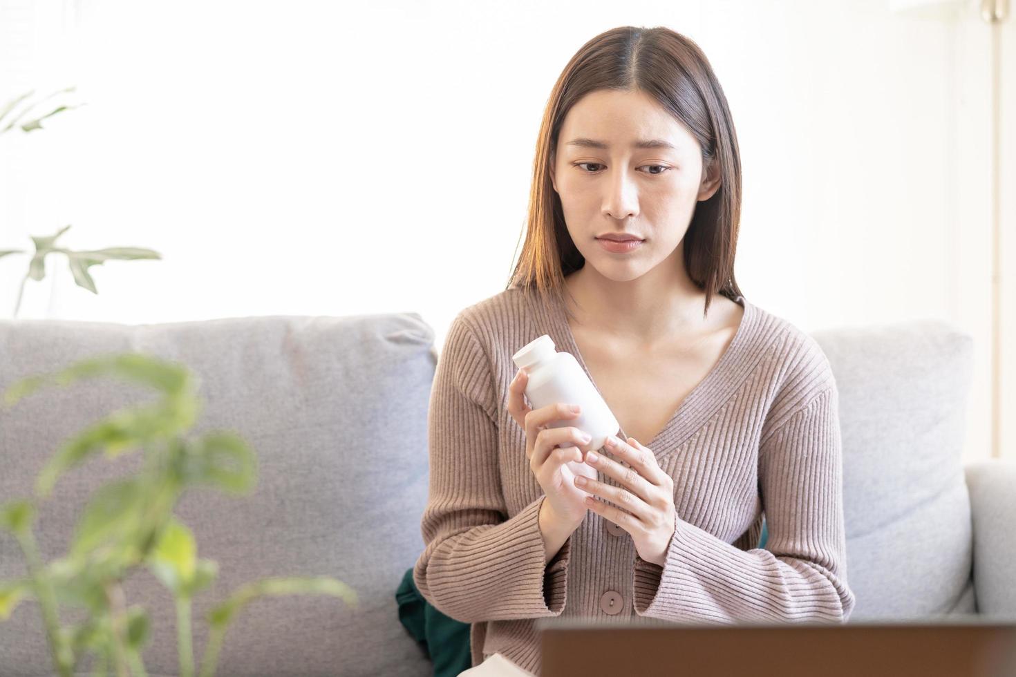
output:
M 708 60 L 698 45 L 663 26 L 620 26 L 599 33 L 578 50 L 554 84 L 536 140 L 525 243 L 507 288 L 536 291 L 545 303 L 549 295 L 563 300 L 565 276 L 585 263 L 565 226 L 550 162 L 568 111 L 596 89 L 649 94 L 698 140 L 703 174 L 710 162 L 719 163 L 719 188 L 696 205 L 684 238 L 688 276 L 706 292 L 705 317 L 714 293 L 741 294 L 734 279 L 741 155 L 726 97 Z

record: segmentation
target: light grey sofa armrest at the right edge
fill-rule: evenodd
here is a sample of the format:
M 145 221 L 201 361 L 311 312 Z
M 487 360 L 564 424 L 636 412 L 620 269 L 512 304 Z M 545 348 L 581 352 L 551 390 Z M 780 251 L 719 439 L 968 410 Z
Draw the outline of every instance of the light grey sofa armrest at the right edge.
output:
M 977 611 L 1016 617 L 1016 461 L 974 461 L 963 470 L 973 522 Z

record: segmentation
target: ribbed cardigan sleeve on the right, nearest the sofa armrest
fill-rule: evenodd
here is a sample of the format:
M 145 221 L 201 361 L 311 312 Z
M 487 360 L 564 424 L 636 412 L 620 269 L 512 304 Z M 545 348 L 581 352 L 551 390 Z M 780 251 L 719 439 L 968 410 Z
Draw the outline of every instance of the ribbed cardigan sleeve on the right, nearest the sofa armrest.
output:
M 635 555 L 635 612 L 681 622 L 845 622 L 842 453 L 835 384 L 782 420 L 759 448 L 765 549 L 742 550 L 683 521 L 663 566 Z

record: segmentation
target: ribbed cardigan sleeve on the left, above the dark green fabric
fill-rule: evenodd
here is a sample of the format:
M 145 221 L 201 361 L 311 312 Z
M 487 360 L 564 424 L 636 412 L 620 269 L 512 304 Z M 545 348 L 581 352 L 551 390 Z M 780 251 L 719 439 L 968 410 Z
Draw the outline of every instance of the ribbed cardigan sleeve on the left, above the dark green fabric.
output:
M 461 622 L 559 616 L 572 539 L 545 563 L 545 495 L 508 516 L 498 466 L 500 398 L 463 313 L 448 330 L 431 388 L 425 549 L 414 582 L 424 599 Z

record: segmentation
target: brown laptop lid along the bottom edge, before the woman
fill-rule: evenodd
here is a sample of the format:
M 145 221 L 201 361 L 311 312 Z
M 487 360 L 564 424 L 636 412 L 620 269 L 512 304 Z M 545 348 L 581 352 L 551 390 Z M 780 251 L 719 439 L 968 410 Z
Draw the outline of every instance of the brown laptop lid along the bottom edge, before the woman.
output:
M 1016 618 L 536 619 L 542 677 L 1016 677 Z

